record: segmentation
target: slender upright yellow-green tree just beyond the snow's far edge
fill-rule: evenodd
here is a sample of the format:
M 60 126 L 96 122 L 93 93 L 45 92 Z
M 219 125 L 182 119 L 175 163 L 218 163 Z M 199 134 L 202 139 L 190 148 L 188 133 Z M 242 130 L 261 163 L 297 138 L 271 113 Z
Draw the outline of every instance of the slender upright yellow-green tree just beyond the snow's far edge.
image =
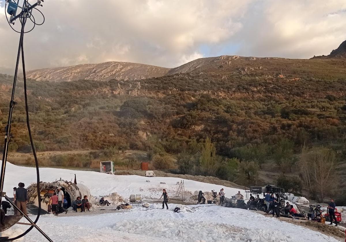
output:
M 207 175 L 215 175 L 217 170 L 216 149 L 209 137 L 203 143 L 199 163 L 203 172 Z

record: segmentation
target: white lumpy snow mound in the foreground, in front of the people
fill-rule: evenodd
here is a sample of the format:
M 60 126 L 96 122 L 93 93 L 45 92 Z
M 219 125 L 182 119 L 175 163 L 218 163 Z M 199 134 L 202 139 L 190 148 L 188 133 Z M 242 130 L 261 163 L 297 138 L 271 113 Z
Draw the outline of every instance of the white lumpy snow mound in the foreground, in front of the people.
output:
M 102 215 L 44 215 L 38 225 L 53 241 L 252 241 L 336 242 L 338 240 L 301 226 L 265 217 L 249 210 L 218 205 L 189 205 L 194 212 L 174 213 L 154 204 Z M 19 233 L 15 225 L 8 233 Z M 4 235 L 4 234 L 3 234 Z M 45 241 L 35 229 L 27 242 Z

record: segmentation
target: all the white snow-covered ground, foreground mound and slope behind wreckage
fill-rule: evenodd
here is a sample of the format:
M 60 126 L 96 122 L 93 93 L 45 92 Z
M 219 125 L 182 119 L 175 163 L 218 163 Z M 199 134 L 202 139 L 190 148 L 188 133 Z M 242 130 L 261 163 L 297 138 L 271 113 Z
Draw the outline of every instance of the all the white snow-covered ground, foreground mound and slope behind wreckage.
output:
M 142 197 L 157 199 L 161 190 L 174 195 L 179 178 L 146 178 L 135 175 L 108 175 L 98 172 L 74 171 L 56 168 L 40 168 L 41 181 L 56 179 L 77 181 L 90 188 L 93 196 L 117 192 L 124 198 L 140 193 Z M 18 182 L 29 185 L 35 182 L 35 169 L 10 163 L 6 167 L 4 190 L 12 194 Z M 150 180 L 150 182 L 146 182 Z M 160 184 L 165 182 L 166 184 Z M 219 191 L 220 185 L 184 180 L 185 190 Z M 226 196 L 234 195 L 238 189 L 224 187 Z M 244 190 L 240 190 L 242 193 Z M 243 193 L 244 194 L 244 193 Z M 245 195 L 245 194 L 244 194 Z M 307 228 L 279 221 L 244 209 L 226 208 L 217 205 L 190 205 L 193 212 L 174 213 L 178 206 L 169 204 L 170 210 L 160 209 L 161 204 L 149 208 L 134 207 L 131 210 L 112 211 L 106 214 L 87 212 L 71 216 L 43 215 L 38 226 L 55 242 L 70 241 L 252 241 L 252 242 L 336 242 L 333 237 Z M 115 207 L 114 207 L 115 208 Z M 183 209 L 184 210 L 184 209 Z M 35 218 L 35 216 L 31 216 Z M 21 222 L 26 222 L 22 219 Z M 14 225 L 1 236 L 14 236 L 28 226 Z M 45 241 L 35 228 L 22 241 Z

